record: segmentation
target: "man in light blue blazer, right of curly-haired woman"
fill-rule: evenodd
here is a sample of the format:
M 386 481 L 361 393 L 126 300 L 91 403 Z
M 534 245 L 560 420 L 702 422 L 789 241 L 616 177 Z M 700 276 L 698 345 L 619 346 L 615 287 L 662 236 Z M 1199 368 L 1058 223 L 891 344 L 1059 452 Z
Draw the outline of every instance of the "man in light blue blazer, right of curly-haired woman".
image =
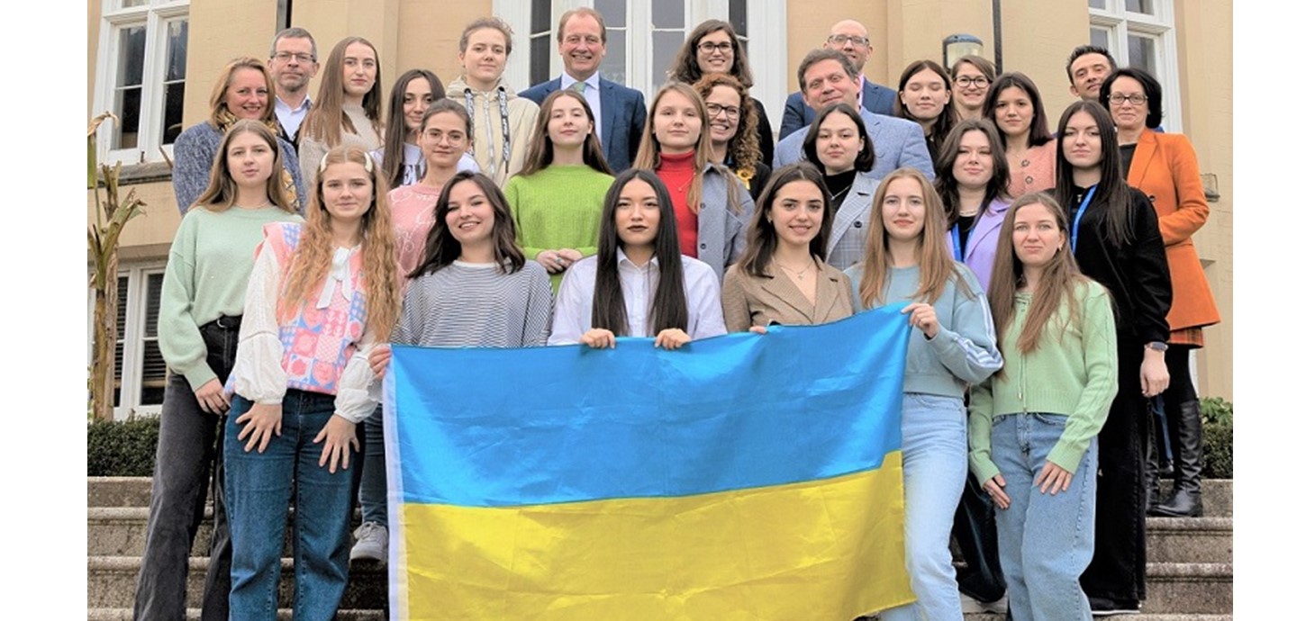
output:
M 859 108 L 859 72 L 849 58 L 838 50 L 813 50 L 800 63 L 800 91 L 803 102 L 817 113 L 830 104 L 848 104 L 868 130 L 868 139 L 877 152 L 877 161 L 864 176 L 881 180 L 896 168 L 913 167 L 927 179 L 935 179 L 931 155 L 922 137 L 922 126 L 902 118 L 874 114 Z M 793 164 L 803 159 L 803 137 L 807 127 L 800 127 L 776 146 L 772 168 Z

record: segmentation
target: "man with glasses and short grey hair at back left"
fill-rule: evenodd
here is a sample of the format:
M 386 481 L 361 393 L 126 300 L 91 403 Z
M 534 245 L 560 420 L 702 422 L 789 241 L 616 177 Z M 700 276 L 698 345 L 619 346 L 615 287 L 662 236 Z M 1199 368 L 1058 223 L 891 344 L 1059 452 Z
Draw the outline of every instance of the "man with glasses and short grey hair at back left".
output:
M 320 72 L 316 39 L 304 28 L 288 28 L 274 35 L 270 46 L 270 74 L 274 76 L 274 114 L 279 138 L 297 148 L 301 121 L 310 112 L 310 79 Z

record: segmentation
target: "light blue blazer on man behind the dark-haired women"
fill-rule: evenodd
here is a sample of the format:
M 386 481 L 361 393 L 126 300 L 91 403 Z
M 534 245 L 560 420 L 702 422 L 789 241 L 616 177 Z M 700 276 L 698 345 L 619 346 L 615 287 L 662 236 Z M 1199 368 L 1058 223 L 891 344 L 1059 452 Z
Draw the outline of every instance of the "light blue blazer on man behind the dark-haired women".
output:
M 863 125 L 868 130 L 872 147 L 877 150 L 877 161 L 872 165 L 872 171 L 863 173 L 864 176 L 881 181 L 896 168 L 913 167 L 922 171 L 927 179 L 936 179 L 920 125 L 903 118 L 873 114 L 867 109 L 859 110 L 859 116 L 863 117 Z M 776 159 L 772 161 L 772 169 L 803 159 L 803 137 L 807 133 L 807 127 L 800 127 L 776 144 Z

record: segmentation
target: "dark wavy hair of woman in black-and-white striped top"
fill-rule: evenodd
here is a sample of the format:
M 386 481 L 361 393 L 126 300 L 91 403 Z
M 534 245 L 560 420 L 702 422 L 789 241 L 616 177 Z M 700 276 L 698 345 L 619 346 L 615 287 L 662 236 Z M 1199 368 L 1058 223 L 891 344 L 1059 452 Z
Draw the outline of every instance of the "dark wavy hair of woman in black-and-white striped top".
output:
M 434 228 L 429 230 L 429 238 L 425 240 L 425 257 L 408 274 L 409 278 L 438 272 L 462 256 L 462 243 L 452 236 L 451 228 L 447 227 L 447 201 L 452 197 L 452 188 L 462 181 L 479 185 L 484 197 L 488 198 L 489 206 L 493 207 L 493 261 L 497 263 L 498 270 L 513 274 L 525 267 L 525 253 L 515 246 L 515 222 L 512 219 L 512 207 L 508 206 L 506 196 L 492 179 L 483 173 L 462 171 L 448 179 L 443 184 L 443 192 L 438 194 L 438 202 L 434 205 Z

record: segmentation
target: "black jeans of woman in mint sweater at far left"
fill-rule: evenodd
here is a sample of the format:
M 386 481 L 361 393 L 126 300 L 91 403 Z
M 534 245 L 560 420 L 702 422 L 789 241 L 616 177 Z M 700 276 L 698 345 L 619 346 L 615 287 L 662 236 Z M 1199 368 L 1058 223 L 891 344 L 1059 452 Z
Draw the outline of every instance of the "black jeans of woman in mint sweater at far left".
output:
M 206 364 L 227 379 L 238 351 L 241 318 L 221 318 L 201 326 Z M 133 618 L 137 621 L 184 618 L 187 565 L 192 540 L 205 512 L 206 487 L 212 482 L 214 533 L 210 565 L 205 572 L 203 621 L 227 621 L 233 546 L 224 509 L 224 419 L 201 410 L 187 378 L 171 373 L 160 407 L 160 437 L 151 478 L 151 512 L 146 523 L 146 551 L 137 576 Z

